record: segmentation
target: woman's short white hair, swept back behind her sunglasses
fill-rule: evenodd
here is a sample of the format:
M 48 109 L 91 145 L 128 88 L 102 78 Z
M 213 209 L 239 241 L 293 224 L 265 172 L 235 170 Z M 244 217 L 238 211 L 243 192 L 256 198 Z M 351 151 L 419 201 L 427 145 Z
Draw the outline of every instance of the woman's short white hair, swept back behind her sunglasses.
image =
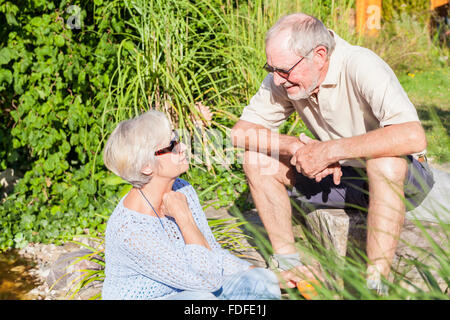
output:
M 147 184 L 151 176 L 142 173 L 148 165 L 155 165 L 155 151 L 168 145 L 171 126 L 166 115 L 150 110 L 120 122 L 106 142 L 103 161 L 106 167 L 136 188 Z

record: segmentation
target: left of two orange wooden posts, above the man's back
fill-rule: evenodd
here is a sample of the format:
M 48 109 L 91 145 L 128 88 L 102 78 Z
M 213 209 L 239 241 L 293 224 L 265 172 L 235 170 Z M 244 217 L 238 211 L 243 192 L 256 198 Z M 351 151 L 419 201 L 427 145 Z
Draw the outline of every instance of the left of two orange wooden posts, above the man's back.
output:
M 378 34 L 381 29 L 381 1 L 356 0 L 356 30 L 359 34 Z

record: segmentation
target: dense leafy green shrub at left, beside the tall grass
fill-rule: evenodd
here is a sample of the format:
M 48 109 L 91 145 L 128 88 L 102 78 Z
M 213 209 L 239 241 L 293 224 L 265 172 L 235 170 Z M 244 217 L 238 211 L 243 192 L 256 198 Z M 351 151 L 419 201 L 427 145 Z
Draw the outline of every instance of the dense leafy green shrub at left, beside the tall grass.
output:
M 0 1 L 1 167 L 26 171 L 0 208 L 1 249 L 101 231 L 96 214 L 117 189 L 103 185 L 97 150 L 119 46 L 111 30 L 126 31 L 120 10 L 72 2 L 83 8 L 78 30 L 69 3 L 56 3 Z

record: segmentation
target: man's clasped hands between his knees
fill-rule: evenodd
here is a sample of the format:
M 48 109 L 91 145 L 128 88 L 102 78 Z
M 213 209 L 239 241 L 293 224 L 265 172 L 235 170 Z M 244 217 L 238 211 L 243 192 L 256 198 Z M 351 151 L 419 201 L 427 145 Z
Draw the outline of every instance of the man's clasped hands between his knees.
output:
M 291 164 L 297 171 L 310 179 L 315 179 L 316 182 L 332 174 L 334 183 L 338 185 L 342 177 L 341 166 L 338 162 L 329 162 L 326 144 L 311 139 L 303 133 L 300 135 L 300 141 L 304 145 L 298 148 L 291 158 Z

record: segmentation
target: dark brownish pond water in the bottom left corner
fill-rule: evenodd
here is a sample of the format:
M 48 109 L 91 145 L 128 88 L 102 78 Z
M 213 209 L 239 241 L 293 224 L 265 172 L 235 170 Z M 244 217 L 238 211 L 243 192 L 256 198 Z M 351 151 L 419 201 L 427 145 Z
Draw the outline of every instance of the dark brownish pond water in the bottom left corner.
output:
M 17 250 L 0 253 L 0 300 L 32 300 L 28 292 L 39 285 L 29 271 L 35 263 L 21 257 Z

